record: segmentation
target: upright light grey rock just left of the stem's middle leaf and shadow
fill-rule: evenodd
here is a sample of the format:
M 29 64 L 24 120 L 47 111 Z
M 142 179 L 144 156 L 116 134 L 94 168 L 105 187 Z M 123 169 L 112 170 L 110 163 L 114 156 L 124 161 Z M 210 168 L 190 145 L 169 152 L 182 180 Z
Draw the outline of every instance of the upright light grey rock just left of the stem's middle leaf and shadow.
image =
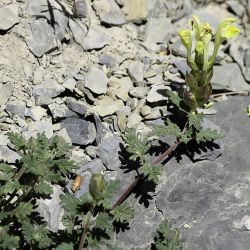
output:
M 121 161 L 119 159 L 121 144 L 123 144 L 122 139 L 112 134 L 107 134 L 106 137 L 102 139 L 97 154 L 107 169 L 119 169 L 121 165 Z

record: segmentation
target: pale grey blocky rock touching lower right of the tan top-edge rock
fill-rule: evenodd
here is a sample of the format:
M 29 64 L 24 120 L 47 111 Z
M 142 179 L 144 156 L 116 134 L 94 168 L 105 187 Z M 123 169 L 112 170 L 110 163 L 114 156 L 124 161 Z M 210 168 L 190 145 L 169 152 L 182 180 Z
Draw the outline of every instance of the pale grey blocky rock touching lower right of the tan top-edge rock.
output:
M 147 43 L 168 43 L 172 37 L 171 19 L 165 16 L 151 17 L 145 26 L 144 41 Z

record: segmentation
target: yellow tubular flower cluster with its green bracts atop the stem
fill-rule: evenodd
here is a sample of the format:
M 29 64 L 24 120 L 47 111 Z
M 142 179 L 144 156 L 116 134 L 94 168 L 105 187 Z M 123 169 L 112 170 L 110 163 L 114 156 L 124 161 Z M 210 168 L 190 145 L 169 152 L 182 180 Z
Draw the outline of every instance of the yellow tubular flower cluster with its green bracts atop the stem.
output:
M 202 23 L 199 17 L 193 16 L 192 29 L 179 31 L 181 41 L 187 50 L 187 63 L 191 68 L 190 73 L 186 74 L 188 89 L 184 91 L 183 99 L 192 110 L 202 107 L 210 98 L 213 64 L 221 43 L 239 33 L 239 29 L 232 25 L 235 21 L 235 18 L 226 18 L 218 25 L 211 56 L 209 56 L 209 48 L 213 33 L 208 22 Z M 192 34 L 195 37 L 194 58 L 192 57 Z

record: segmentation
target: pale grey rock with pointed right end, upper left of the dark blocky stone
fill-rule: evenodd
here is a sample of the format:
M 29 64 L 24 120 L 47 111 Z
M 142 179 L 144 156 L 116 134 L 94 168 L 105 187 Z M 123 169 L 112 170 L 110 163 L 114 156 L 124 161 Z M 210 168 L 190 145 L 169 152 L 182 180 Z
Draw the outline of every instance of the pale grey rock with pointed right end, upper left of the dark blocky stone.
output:
M 37 99 L 40 96 L 56 97 L 62 93 L 65 88 L 58 84 L 54 79 L 47 79 L 42 84 L 33 87 L 33 96 Z

